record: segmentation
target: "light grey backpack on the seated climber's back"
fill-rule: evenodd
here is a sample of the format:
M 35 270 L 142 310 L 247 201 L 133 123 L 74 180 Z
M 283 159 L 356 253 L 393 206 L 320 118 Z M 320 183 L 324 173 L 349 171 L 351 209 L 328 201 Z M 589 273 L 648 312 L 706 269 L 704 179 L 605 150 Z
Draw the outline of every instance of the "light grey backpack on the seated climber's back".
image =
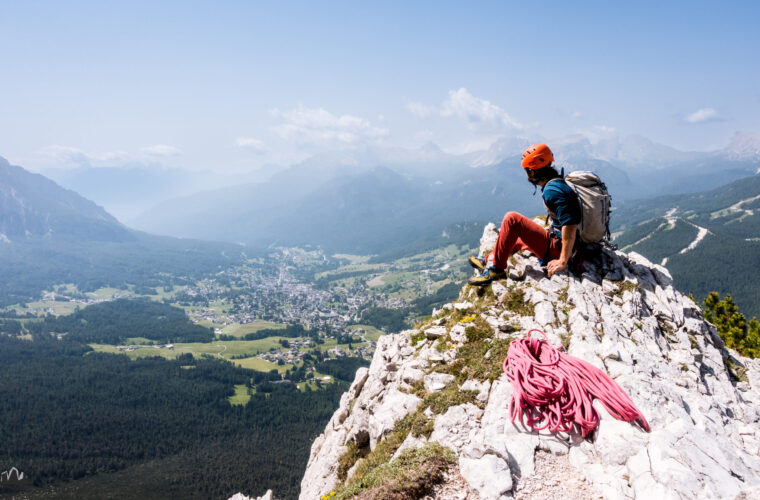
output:
M 573 188 L 581 204 L 581 239 L 598 243 L 610 237 L 610 205 L 612 198 L 607 186 L 593 172 L 570 172 L 565 182 Z

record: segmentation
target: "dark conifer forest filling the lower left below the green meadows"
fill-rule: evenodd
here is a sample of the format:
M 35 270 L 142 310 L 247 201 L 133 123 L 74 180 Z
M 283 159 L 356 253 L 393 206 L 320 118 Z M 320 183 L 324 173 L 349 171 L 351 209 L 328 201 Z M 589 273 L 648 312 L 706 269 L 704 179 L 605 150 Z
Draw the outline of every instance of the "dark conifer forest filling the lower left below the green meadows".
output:
M 29 498 L 226 498 L 264 485 L 294 498 L 311 440 L 346 388 L 271 385 L 233 406 L 233 386 L 255 372 L 89 351 L 0 334 L 0 468 L 30 478 Z M 0 485 L 0 496 L 11 492 Z

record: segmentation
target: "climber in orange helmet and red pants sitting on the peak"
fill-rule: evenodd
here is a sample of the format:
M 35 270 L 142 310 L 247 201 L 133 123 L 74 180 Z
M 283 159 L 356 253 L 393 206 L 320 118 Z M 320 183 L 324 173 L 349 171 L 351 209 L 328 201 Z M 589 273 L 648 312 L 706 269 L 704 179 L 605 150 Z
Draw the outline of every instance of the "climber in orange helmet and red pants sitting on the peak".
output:
M 467 283 L 483 286 L 506 277 L 509 257 L 520 250 L 530 250 L 546 265 L 549 277 L 566 269 L 575 248 L 581 208 L 578 196 L 554 168 L 554 154 L 546 144 L 534 144 L 522 155 L 522 167 L 528 181 L 540 186 L 544 205 L 551 218 L 551 230 L 517 212 L 507 212 L 501 223 L 499 238 L 493 249 L 493 264 L 470 257 L 470 265 L 479 269 L 478 276 Z

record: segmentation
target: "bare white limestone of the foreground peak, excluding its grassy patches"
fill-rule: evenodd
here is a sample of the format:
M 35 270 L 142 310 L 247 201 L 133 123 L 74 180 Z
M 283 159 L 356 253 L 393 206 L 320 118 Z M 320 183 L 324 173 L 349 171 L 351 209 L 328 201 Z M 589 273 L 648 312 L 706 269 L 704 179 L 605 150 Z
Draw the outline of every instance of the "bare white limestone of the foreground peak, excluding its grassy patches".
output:
M 495 225 L 486 227 L 481 256 L 493 248 L 497 234 Z M 634 286 L 624 286 L 624 281 Z M 534 484 L 553 480 L 534 477 L 543 473 L 536 469 L 537 450 L 567 454 L 589 491 L 607 499 L 757 496 L 760 360 L 727 350 L 699 307 L 673 287 L 666 269 L 638 254 L 603 249 L 598 259 L 588 262 L 582 277 L 563 274 L 549 279 L 535 257 L 517 254 L 510 278 L 491 285 L 497 298 L 507 294 L 507 287 L 525 294 L 535 306 L 535 316 L 505 310 L 500 301 L 481 311 L 474 290 L 469 290 L 468 311 L 480 311 L 494 329 L 494 338 L 510 336 L 514 325 L 521 330 L 514 335 L 541 328 L 554 343 L 560 337 L 569 339 L 569 354 L 613 377 L 643 412 L 652 432 L 614 419 L 598 402 L 601 422 L 594 439 L 533 432 L 510 420 L 513 389 L 504 375 L 493 383 L 468 380 L 459 389 L 477 391 L 476 402 L 484 409 L 468 403 L 440 415 L 430 408 L 423 413 L 434 419 L 429 441 L 453 450 L 459 471 L 480 498 L 519 494 L 520 482 L 529 477 Z M 567 299 L 560 300 L 565 293 Z M 441 313 L 456 310 L 456 304 L 448 304 Z M 455 383 L 451 375 L 427 373 L 456 359 L 456 348 L 436 348 L 449 319 L 439 318 L 440 324 L 432 328 L 443 331 L 426 331 L 431 339 L 416 346 L 408 333 L 380 338 L 369 369 L 357 372 L 312 445 L 301 499 L 319 498 L 335 487 L 336 464 L 349 441 L 374 448 L 400 418 L 419 408 L 422 400 L 404 392 L 411 384 L 424 380 L 426 390 L 434 391 Z M 448 335 L 453 345 L 467 345 L 465 325 L 455 325 Z M 746 382 L 732 381 L 724 357 L 746 368 Z M 501 360 L 486 355 L 482 362 Z M 402 448 L 423 442 L 407 436 Z

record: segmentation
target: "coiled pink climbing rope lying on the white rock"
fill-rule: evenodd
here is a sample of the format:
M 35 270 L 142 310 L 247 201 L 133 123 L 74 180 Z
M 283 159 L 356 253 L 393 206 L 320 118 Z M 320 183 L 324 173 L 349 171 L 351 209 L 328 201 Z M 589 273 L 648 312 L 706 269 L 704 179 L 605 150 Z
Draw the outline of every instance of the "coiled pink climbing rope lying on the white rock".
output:
M 606 373 L 582 359 L 559 352 L 548 340 L 513 340 L 502 368 L 514 388 L 509 415 L 535 431 L 570 432 L 578 425 L 586 437 L 599 424 L 591 404 L 598 399 L 618 420 L 636 422 L 647 432 L 649 423 L 628 394 Z

